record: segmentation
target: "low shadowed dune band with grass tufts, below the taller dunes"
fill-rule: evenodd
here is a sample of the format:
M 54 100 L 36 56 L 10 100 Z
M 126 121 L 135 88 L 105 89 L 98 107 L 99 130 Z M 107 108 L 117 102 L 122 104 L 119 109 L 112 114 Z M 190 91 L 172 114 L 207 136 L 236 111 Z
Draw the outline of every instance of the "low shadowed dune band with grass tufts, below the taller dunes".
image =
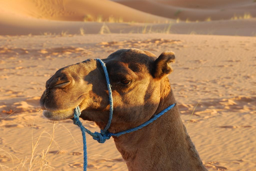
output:
M 1 12 L 0 12 L 1 14 Z M 256 19 L 180 22 L 170 24 L 101 23 L 54 21 L 14 14 L 0 15 L 0 35 L 60 35 L 97 33 L 178 33 L 202 35 L 255 36 Z

